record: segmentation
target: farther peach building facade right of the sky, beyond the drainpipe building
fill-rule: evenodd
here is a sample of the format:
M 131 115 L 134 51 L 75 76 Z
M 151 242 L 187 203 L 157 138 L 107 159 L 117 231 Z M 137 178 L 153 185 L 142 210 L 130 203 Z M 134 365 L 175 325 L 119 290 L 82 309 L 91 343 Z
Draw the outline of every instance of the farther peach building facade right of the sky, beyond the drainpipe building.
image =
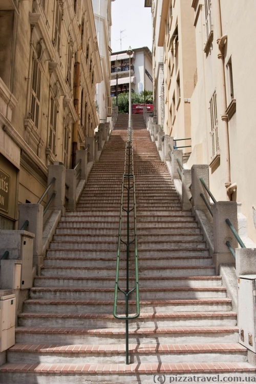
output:
M 158 46 L 164 56 L 164 131 L 177 139 L 190 137 L 190 98 L 196 72 L 194 14 L 186 0 L 163 0 Z M 189 145 L 179 142 L 180 146 Z M 190 152 L 189 148 L 185 151 Z

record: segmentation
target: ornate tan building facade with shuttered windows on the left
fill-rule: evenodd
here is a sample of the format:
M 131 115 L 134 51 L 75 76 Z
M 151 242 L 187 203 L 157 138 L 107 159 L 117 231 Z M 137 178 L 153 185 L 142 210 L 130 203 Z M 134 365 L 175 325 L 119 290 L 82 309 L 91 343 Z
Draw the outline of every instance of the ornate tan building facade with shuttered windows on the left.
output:
M 103 77 L 91 0 L 4 0 L 0 31 L 0 228 L 15 229 L 47 166 L 71 168 L 94 135 Z

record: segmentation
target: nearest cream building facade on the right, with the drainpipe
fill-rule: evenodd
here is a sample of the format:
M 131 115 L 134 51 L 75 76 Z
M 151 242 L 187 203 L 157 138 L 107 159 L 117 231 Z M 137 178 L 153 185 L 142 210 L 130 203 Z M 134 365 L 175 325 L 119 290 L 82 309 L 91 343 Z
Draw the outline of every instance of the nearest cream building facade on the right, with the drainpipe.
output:
M 248 236 L 255 242 L 256 5 L 251 0 L 193 1 L 191 5 L 197 78 L 190 104 L 192 153 L 187 166 L 209 164 L 211 192 L 217 200 L 241 203 Z

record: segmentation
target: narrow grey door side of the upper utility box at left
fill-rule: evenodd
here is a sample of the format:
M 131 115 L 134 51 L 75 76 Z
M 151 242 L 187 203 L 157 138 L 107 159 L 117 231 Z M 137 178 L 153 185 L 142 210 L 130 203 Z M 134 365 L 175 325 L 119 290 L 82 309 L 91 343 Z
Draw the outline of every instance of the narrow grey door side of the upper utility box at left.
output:
M 20 278 L 20 289 L 31 288 L 33 267 L 33 238 L 22 236 L 21 259 L 22 276 Z

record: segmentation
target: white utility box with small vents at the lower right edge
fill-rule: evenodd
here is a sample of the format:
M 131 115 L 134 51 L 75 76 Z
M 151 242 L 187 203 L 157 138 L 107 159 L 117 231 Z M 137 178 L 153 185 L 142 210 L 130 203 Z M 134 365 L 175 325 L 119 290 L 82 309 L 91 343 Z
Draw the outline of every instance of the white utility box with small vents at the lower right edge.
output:
M 239 342 L 256 353 L 256 275 L 238 277 Z

